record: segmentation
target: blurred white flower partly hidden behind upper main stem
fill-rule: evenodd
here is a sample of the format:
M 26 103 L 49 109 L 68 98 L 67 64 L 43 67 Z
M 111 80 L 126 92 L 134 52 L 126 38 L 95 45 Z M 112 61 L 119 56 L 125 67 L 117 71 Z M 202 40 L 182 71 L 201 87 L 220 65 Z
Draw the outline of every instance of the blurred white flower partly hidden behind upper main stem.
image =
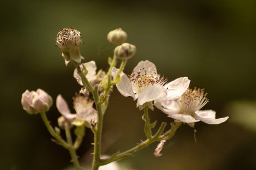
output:
M 86 70 L 88 71 L 88 73 L 86 74 L 86 78 L 88 79 L 88 81 L 92 84 L 92 86 L 94 86 L 96 83 L 101 82 L 104 78 L 105 78 L 105 72 L 103 72 L 102 70 L 100 70 L 97 74 L 96 74 L 96 63 L 95 61 L 90 61 L 87 63 L 83 63 L 80 65 L 81 70 L 83 69 L 83 66 L 86 68 Z M 79 76 L 79 74 L 77 73 L 77 69 L 75 69 L 74 74 L 73 74 L 74 78 L 77 80 L 77 82 L 83 86 L 82 83 L 82 79 Z

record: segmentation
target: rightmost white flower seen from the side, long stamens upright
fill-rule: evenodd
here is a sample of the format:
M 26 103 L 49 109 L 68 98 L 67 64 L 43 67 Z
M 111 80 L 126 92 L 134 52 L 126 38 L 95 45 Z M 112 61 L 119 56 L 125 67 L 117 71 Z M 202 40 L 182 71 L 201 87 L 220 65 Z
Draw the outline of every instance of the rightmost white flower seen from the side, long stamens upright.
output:
M 206 103 L 208 99 L 204 94 L 204 89 L 187 89 L 186 92 L 176 99 L 175 101 L 162 101 L 155 102 L 155 106 L 164 113 L 168 114 L 171 118 L 177 119 L 181 122 L 190 123 L 190 126 L 194 126 L 194 122 L 205 122 L 208 124 L 220 124 L 229 117 L 215 119 L 215 111 L 205 110 L 199 111 Z

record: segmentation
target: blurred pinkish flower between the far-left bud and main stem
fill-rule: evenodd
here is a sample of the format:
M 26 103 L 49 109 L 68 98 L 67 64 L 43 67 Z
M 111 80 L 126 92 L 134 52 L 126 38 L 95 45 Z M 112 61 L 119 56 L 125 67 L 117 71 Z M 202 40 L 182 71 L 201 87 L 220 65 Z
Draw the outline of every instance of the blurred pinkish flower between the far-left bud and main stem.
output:
M 82 126 L 85 123 L 85 126 L 90 128 L 91 122 L 97 123 L 97 112 L 92 108 L 93 101 L 88 100 L 85 96 L 76 96 L 73 98 L 74 100 L 74 109 L 77 114 L 72 114 L 70 109 L 68 108 L 68 104 L 63 99 L 61 94 L 57 96 L 56 106 L 58 111 L 62 114 L 62 116 L 67 119 L 75 118 L 75 121 L 72 122 L 75 126 Z

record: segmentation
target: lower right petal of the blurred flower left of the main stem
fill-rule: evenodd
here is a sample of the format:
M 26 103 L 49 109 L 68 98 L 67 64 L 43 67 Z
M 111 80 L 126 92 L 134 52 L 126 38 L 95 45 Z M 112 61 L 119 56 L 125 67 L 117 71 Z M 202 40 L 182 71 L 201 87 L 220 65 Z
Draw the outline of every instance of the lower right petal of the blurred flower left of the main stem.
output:
M 88 123 L 94 122 L 97 123 L 97 112 L 93 108 L 84 108 L 81 112 L 77 113 L 77 117 L 87 121 Z

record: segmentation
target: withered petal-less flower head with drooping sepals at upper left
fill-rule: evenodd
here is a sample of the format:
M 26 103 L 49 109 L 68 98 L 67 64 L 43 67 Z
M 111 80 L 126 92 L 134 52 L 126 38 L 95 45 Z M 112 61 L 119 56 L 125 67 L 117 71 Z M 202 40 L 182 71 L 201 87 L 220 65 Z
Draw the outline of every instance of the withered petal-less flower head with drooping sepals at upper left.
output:
M 62 57 L 65 58 L 66 65 L 70 61 L 81 63 L 84 59 L 80 54 L 80 44 L 82 42 L 81 33 L 73 28 L 63 28 L 57 34 L 56 45 L 61 48 Z

